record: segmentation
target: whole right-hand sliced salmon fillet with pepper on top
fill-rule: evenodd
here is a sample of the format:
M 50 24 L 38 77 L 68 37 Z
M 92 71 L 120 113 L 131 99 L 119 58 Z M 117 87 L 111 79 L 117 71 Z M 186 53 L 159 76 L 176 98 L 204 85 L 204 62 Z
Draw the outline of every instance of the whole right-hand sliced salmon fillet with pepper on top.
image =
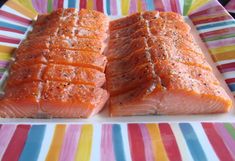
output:
M 137 35 L 140 31 L 144 34 Z M 110 22 L 110 32 L 106 87 L 111 116 L 230 110 L 230 97 L 180 15 L 136 13 Z

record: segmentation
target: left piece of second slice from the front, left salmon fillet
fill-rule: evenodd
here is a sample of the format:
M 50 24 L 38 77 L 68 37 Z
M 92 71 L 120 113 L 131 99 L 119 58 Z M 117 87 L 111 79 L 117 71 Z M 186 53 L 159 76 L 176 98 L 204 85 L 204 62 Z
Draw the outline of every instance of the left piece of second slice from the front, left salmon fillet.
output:
M 11 87 L 25 82 L 41 81 L 45 67 L 46 65 L 44 64 L 35 64 L 21 68 L 12 68 L 7 86 Z

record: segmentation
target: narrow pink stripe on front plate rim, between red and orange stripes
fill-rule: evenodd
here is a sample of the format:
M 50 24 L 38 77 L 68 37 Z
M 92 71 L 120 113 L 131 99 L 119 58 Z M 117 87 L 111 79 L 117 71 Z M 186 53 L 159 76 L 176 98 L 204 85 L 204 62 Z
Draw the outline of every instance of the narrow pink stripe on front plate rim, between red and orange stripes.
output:
M 146 128 L 146 125 L 139 124 L 139 127 L 140 127 L 141 134 L 143 137 L 146 160 L 154 161 L 153 152 L 152 152 L 152 142 L 151 142 L 151 138 L 149 137 L 149 133 Z

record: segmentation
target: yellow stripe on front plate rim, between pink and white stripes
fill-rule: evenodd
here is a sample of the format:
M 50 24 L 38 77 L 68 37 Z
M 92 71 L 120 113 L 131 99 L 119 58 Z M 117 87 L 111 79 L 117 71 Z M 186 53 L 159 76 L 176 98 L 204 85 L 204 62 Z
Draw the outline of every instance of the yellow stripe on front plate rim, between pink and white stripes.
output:
M 79 138 L 79 144 L 75 155 L 75 161 L 89 161 L 91 156 L 92 147 L 92 125 L 83 125 L 81 135 Z

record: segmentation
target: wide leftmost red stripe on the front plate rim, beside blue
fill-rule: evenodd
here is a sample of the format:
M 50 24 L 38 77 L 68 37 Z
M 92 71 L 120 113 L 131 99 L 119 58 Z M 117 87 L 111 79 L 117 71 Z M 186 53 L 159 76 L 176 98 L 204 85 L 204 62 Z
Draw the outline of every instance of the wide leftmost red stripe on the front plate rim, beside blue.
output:
M 3 155 L 2 161 L 17 161 L 24 148 L 30 125 L 18 125 Z

